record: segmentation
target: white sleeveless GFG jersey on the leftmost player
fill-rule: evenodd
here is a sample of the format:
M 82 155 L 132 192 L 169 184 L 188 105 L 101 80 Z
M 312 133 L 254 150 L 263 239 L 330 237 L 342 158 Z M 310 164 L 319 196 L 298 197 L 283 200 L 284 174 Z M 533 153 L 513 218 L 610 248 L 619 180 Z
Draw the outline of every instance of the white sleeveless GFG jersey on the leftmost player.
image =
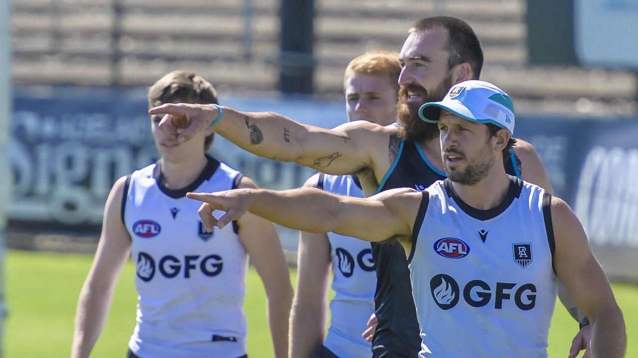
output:
M 211 157 L 184 190 L 161 187 L 157 164 L 131 175 L 122 217 L 137 266 L 137 325 L 129 341 L 136 355 L 246 354 L 242 306 L 248 257 L 236 223 L 206 231 L 197 213 L 201 203 L 184 196 L 232 189 L 239 175 Z

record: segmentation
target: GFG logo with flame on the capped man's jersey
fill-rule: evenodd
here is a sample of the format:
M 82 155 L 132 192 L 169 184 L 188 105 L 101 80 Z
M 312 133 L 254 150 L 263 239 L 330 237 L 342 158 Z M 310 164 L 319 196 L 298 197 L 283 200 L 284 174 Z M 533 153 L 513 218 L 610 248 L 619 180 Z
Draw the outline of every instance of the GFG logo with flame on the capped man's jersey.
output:
M 504 301 L 512 299 L 523 310 L 529 311 L 536 305 L 536 286 L 533 283 L 524 283 L 516 291 L 516 283 L 496 282 L 496 289 L 492 289 L 487 282 L 471 280 L 463 287 L 463 300 L 472 307 L 486 306 L 494 296 L 494 308 L 503 309 Z M 449 310 L 459 303 L 461 290 L 459 284 L 452 276 L 440 273 L 430 280 L 432 298 L 441 310 Z

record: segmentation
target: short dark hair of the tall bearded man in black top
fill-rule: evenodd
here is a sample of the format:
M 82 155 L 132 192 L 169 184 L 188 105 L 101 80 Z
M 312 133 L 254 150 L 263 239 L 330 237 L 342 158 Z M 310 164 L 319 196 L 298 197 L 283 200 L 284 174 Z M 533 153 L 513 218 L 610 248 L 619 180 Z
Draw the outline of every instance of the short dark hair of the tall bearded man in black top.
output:
M 467 22 L 449 16 L 426 17 L 415 22 L 410 33 L 437 27 L 447 29 L 449 34 L 447 43 L 448 67 L 451 69 L 457 64 L 468 62 L 472 69 L 472 79 L 478 80 L 480 70 L 483 68 L 483 50 L 479 38 Z

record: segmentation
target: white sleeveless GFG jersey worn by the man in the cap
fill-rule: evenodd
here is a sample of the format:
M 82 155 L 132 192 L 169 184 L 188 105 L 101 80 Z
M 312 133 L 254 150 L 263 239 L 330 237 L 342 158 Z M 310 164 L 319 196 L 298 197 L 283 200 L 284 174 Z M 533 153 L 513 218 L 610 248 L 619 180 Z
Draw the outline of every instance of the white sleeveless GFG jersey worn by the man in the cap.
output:
M 419 357 L 547 357 L 556 304 L 550 198 L 513 176 L 492 210 L 468 206 L 449 180 L 424 192 L 408 257 Z

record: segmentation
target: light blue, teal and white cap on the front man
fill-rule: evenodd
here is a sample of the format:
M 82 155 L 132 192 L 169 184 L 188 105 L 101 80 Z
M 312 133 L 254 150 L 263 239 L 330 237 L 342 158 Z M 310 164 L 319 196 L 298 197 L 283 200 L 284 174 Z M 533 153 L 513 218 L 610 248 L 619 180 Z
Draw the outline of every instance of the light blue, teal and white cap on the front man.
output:
M 479 123 L 492 123 L 514 134 L 514 103 L 507 93 L 492 83 L 470 80 L 452 86 L 443 101 L 419 108 L 419 117 L 437 123 L 441 108 Z

